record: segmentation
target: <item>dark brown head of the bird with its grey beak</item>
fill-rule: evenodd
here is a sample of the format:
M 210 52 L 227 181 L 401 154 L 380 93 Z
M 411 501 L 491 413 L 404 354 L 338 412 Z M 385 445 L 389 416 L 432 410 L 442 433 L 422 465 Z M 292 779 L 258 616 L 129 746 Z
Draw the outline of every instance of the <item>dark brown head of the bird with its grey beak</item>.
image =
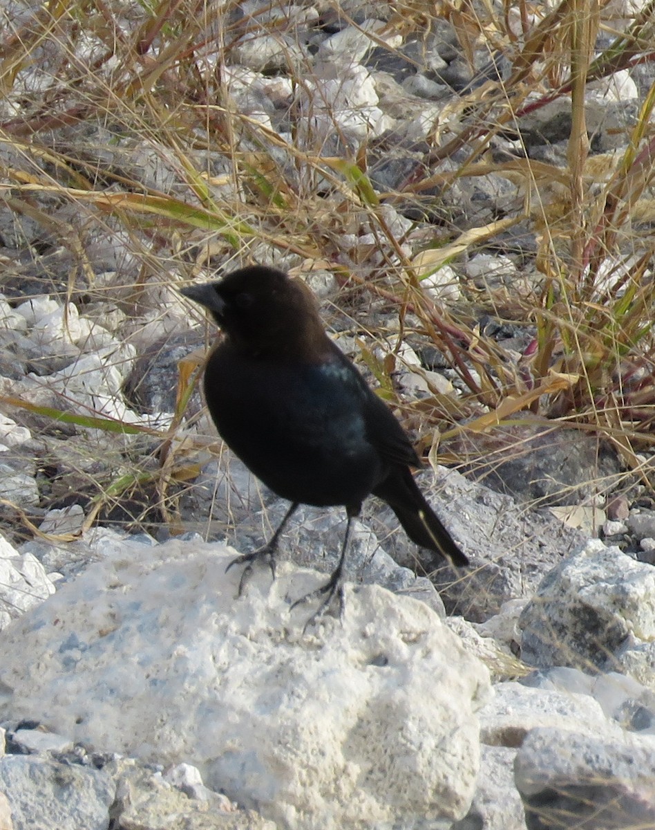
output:
M 274 268 L 240 268 L 180 293 L 204 305 L 230 340 L 253 353 L 305 351 L 325 337 L 312 292 Z

